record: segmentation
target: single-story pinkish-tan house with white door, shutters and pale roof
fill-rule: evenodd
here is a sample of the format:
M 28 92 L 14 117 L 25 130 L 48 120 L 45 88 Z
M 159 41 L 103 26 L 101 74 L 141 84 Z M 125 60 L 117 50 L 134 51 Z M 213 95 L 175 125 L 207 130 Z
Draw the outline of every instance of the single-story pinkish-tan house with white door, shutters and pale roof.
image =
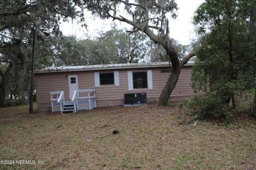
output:
M 170 100 L 182 100 L 194 95 L 190 87 L 192 65 L 193 62 L 189 62 L 183 67 Z M 37 109 L 51 110 L 51 91 L 63 91 L 63 100 L 71 101 L 75 97 L 74 91 L 78 89 L 94 89 L 97 107 L 124 105 L 125 94 L 143 93 L 148 103 L 155 102 L 170 76 L 170 70 L 169 62 L 63 66 L 37 70 Z

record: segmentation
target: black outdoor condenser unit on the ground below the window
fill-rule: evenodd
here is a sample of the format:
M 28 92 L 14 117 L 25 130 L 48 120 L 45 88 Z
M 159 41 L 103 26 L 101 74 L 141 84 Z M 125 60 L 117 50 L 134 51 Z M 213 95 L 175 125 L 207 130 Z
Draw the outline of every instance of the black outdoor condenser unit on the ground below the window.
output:
M 146 92 L 138 94 L 124 94 L 124 105 L 141 105 L 147 103 Z

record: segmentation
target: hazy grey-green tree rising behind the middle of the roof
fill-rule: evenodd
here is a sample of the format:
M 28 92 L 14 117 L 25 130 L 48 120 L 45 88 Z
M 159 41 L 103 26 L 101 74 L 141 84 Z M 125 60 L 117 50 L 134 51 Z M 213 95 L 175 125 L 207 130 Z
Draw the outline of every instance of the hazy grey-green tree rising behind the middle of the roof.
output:
M 83 64 L 138 63 L 147 61 L 152 44 L 142 33 L 129 35 L 113 28 L 98 37 L 80 40 Z

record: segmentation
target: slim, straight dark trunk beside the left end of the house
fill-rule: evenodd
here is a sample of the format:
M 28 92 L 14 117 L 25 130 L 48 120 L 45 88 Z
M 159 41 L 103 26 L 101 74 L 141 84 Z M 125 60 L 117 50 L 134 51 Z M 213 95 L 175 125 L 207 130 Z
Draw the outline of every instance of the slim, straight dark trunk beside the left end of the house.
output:
M 30 91 L 29 91 L 29 114 L 33 113 L 33 92 L 34 92 L 34 65 L 35 65 L 35 46 L 36 46 L 36 27 L 33 30 L 33 44 L 31 56 L 31 73 L 30 73 Z

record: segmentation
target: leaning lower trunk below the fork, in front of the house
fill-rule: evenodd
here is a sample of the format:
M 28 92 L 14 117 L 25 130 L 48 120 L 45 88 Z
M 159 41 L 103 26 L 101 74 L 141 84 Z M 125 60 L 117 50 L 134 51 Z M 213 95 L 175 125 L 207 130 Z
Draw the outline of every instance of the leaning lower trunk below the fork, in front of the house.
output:
M 167 80 L 165 87 L 158 99 L 158 105 L 160 106 L 166 106 L 168 103 L 168 99 L 172 93 L 172 90 L 174 89 L 180 75 L 181 69 L 178 69 L 177 71 L 172 71 L 169 79 Z

